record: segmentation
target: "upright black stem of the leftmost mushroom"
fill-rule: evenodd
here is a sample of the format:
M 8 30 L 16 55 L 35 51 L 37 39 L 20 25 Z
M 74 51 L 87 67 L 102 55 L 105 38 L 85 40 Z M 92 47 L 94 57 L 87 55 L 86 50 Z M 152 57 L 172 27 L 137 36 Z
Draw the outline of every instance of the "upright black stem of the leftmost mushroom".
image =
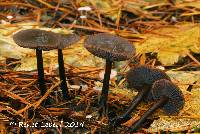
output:
M 40 88 L 40 94 L 43 96 L 46 91 L 46 85 L 44 81 L 44 68 L 43 68 L 43 58 L 42 58 L 42 49 L 36 49 L 37 56 L 37 68 L 38 68 L 38 83 Z

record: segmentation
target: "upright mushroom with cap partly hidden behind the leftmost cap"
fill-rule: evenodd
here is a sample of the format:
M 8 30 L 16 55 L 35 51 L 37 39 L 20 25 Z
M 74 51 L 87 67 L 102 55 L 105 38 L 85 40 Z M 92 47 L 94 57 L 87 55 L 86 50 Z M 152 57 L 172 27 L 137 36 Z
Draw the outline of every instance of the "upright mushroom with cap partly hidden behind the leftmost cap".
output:
M 62 81 L 61 90 L 62 90 L 63 98 L 69 99 L 70 97 L 69 97 L 68 87 L 67 87 L 67 82 L 66 82 L 62 49 L 70 46 L 71 44 L 74 44 L 80 39 L 80 37 L 76 34 L 66 34 L 66 35 L 61 34 L 60 38 L 61 38 L 61 42 L 58 45 L 58 64 L 59 64 L 60 80 Z

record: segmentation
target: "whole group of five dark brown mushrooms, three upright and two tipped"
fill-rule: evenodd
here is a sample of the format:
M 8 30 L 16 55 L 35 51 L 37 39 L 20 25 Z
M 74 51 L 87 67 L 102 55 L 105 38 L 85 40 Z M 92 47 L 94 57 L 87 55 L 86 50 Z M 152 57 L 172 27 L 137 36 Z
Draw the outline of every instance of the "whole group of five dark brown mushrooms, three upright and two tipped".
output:
M 21 47 L 36 49 L 38 83 L 41 95 L 44 95 L 47 90 L 44 80 L 42 50 L 58 49 L 60 87 L 63 98 L 69 99 L 62 49 L 74 44 L 80 37 L 75 34 L 62 35 L 39 29 L 28 29 L 16 33 L 13 39 Z M 108 33 L 87 36 L 84 47 L 93 55 L 106 60 L 103 87 L 99 100 L 99 113 L 106 116 L 108 113 L 107 100 L 112 64 L 115 61 L 129 60 L 135 55 L 135 47 L 126 39 Z M 127 72 L 126 80 L 128 88 L 136 90 L 138 94 L 122 116 L 110 121 L 112 126 L 127 121 L 131 112 L 135 110 L 141 101 L 151 101 L 155 104 L 133 124 L 132 131 L 139 129 L 146 118 L 158 108 L 162 108 L 168 115 L 177 114 L 183 108 L 184 97 L 181 90 L 172 83 L 166 73 L 159 69 L 147 65 L 136 65 Z

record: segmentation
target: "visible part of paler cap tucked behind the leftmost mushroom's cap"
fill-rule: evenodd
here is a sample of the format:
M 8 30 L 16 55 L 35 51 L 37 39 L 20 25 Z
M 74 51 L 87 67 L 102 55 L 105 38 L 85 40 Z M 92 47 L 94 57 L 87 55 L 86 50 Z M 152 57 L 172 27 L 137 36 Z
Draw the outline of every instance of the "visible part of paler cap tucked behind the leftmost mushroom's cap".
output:
M 58 46 L 59 49 L 68 47 L 80 40 L 80 36 L 76 34 L 60 34 L 61 43 Z

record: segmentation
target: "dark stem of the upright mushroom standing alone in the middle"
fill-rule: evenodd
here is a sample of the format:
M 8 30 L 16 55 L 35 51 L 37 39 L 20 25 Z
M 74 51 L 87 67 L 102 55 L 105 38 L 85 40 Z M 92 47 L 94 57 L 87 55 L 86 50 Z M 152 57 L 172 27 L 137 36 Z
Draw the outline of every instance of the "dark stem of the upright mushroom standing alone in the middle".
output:
M 107 113 L 107 99 L 108 99 L 108 90 L 109 90 L 109 81 L 110 81 L 110 74 L 111 74 L 111 68 L 112 68 L 112 61 L 106 60 L 106 69 L 104 73 L 104 79 L 103 79 L 103 87 L 101 92 L 101 98 L 99 101 L 100 107 L 103 108 L 100 111 L 103 112 L 103 115 Z

